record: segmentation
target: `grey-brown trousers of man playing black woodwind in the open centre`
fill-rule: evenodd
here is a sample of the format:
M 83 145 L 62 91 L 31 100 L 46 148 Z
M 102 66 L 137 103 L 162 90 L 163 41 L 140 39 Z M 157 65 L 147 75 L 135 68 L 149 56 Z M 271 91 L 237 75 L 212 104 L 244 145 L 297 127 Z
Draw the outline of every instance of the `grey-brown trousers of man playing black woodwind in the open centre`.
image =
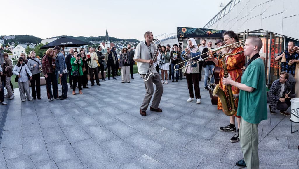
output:
M 142 77 L 144 78 L 144 74 L 142 75 Z M 155 95 L 154 98 L 152 99 L 152 95 L 154 94 L 154 85 L 153 83 L 156 85 L 156 91 L 155 91 Z M 140 109 L 142 111 L 146 111 L 147 108 L 149 107 L 149 102 L 152 99 L 152 108 L 157 109 L 160 101 L 161 101 L 161 97 L 163 94 L 163 85 L 160 79 L 160 76 L 158 73 L 155 73 L 155 76 L 150 76 L 148 81 L 144 81 L 144 85 L 145 85 L 145 90 L 147 93 L 145 93 L 144 99 L 143 99 L 143 103 L 140 107 Z

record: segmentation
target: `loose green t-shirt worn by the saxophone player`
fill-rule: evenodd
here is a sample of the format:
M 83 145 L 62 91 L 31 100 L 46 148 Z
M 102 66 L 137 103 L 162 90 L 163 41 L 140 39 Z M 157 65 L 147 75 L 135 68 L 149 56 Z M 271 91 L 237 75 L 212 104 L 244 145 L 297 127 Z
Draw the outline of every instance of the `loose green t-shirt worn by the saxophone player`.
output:
M 253 87 L 252 92 L 240 90 L 238 112 L 248 123 L 257 124 L 267 119 L 267 91 L 263 60 L 256 59 L 246 68 L 241 83 Z

